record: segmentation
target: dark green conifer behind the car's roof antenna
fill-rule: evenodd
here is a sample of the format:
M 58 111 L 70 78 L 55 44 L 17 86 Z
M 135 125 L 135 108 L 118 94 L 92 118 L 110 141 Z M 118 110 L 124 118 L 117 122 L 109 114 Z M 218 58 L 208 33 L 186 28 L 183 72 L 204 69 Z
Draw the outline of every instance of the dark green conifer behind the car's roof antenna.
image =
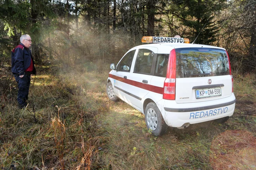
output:
M 204 25 L 195 43 L 211 45 L 216 41 L 219 27 L 214 16 L 225 7 L 225 0 L 173 0 L 173 2 L 178 6 L 183 25 L 191 28 L 192 32 L 187 32 L 190 41 L 194 41 Z

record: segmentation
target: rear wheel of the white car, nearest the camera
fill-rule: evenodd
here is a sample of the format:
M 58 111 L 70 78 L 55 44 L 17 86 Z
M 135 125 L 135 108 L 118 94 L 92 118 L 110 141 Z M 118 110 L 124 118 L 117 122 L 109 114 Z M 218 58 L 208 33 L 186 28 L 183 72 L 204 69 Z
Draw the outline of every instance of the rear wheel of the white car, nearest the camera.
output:
M 145 122 L 147 129 L 151 129 L 151 133 L 154 136 L 161 136 L 166 133 L 168 129 L 160 110 L 153 102 L 147 104 L 145 109 Z

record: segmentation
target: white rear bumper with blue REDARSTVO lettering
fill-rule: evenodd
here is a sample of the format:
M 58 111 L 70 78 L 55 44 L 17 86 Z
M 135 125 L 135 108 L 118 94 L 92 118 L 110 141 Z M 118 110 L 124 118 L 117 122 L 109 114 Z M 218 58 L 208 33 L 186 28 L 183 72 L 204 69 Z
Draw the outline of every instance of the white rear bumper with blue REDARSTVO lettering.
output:
M 174 100 L 157 102 L 168 126 L 181 127 L 185 123 L 195 124 L 232 116 L 235 110 L 235 95 L 218 100 L 177 104 Z M 162 106 L 162 107 L 161 107 Z

